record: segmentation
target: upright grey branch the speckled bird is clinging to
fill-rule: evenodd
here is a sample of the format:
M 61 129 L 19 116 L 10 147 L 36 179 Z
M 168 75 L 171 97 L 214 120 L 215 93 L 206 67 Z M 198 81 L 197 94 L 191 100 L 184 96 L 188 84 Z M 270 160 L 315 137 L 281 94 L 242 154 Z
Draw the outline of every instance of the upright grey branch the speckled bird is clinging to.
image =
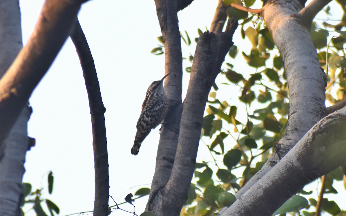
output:
M 182 0 L 181 2 L 185 2 Z M 187 0 L 186 2 L 192 2 Z M 156 212 L 156 206 L 162 202 L 154 202 L 158 190 L 164 187 L 170 176 L 179 137 L 179 126 L 182 112 L 182 53 L 178 26 L 178 3 L 170 0 L 155 0 L 157 18 L 160 24 L 165 47 L 165 92 L 170 99 L 170 107 L 161 130 L 160 142 L 156 155 L 156 167 L 149 194 L 146 211 Z M 181 7 L 181 6 L 179 6 Z M 180 8 L 181 9 L 181 8 Z M 162 201 L 162 200 L 161 200 Z M 162 205 L 161 205 L 162 206 Z

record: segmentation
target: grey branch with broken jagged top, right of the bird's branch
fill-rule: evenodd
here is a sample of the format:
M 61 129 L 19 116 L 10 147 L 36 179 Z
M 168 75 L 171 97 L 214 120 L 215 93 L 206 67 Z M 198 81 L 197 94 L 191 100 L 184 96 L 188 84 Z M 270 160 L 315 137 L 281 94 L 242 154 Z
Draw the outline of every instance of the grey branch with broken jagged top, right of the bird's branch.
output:
M 179 139 L 175 158 L 171 160 L 173 167 L 170 176 L 168 176 L 169 180 L 161 179 L 165 184 L 161 183 L 162 186 L 155 187 L 155 190 L 153 190 L 154 187 L 152 186 L 146 208 L 147 211 L 153 212 L 158 216 L 179 215 L 187 198 L 187 191 L 196 163 L 203 113 L 208 94 L 216 76 L 220 72 L 220 67 L 229 48 L 233 45 L 232 37 L 238 26 L 235 20 L 229 20 L 226 31 L 221 32 L 222 28 L 220 29 L 220 26 L 222 24 L 220 23 L 219 28 L 216 28 L 218 31 L 205 32 L 198 40 L 191 68 L 188 92 L 183 102 L 181 122 L 180 127 L 178 127 L 180 128 Z M 166 63 L 170 62 L 166 61 Z M 165 126 L 161 137 L 165 130 L 170 130 L 170 128 Z M 162 157 L 160 152 L 158 152 L 157 157 Z M 160 164 L 157 163 L 156 166 L 160 166 Z

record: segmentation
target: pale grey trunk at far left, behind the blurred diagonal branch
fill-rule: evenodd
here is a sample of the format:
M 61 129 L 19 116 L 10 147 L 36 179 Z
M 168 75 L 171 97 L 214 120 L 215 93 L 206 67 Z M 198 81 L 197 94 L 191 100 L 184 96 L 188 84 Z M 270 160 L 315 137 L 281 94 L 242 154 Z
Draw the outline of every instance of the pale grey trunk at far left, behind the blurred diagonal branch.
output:
M 18 0 L 0 1 L 0 77 L 22 48 Z M 0 149 L 0 215 L 20 215 L 21 182 L 28 150 L 27 122 L 31 109 L 21 110 Z

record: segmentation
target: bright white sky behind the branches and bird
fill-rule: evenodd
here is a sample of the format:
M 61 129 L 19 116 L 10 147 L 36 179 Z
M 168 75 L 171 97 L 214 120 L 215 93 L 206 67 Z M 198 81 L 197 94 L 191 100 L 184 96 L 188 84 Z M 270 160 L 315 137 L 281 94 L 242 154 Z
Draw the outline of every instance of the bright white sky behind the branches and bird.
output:
M 43 0 L 20 2 L 24 43 L 34 28 L 42 4 Z M 209 28 L 216 5 L 217 0 L 194 1 L 179 12 L 180 30 L 188 31 L 191 40 L 198 37 L 197 28 Z M 157 47 L 156 38 L 161 35 L 155 4 L 153 0 L 94 0 L 83 5 L 79 20 L 93 54 L 107 109 L 110 195 L 122 203 L 127 194 L 134 194 L 141 187 L 150 188 L 155 169 L 158 128 L 145 139 L 137 156 L 130 153 L 146 90 L 152 81 L 164 75 L 164 56 L 150 53 Z M 238 47 L 251 47 L 239 34 L 235 35 Z M 184 56 L 193 50 L 183 45 Z M 238 58 L 239 61 L 245 62 L 242 58 Z M 185 91 L 188 80 L 189 75 L 184 73 Z M 236 90 L 227 98 L 237 101 L 237 95 Z M 27 153 L 24 182 L 31 183 L 33 189 L 47 189 L 47 174 L 52 170 L 53 195 L 45 190 L 43 197 L 60 207 L 60 215 L 92 210 L 94 164 L 90 111 L 79 59 L 70 39 L 34 91 L 30 103 L 34 112 L 28 130 L 29 136 L 36 139 L 36 146 Z M 200 150 L 198 161 L 206 154 L 209 157 L 202 143 Z M 141 200 L 135 202 L 138 215 L 144 211 L 147 197 Z M 120 207 L 133 212 L 129 204 Z M 113 214 L 131 215 L 121 210 Z M 34 215 L 33 210 L 27 215 Z

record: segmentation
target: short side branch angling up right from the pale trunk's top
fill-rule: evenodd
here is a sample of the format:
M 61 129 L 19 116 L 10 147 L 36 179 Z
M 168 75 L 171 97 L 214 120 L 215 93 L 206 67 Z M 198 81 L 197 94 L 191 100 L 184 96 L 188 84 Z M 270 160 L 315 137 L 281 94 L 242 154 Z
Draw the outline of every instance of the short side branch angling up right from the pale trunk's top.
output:
M 320 12 L 331 0 L 313 0 L 301 11 L 299 15 L 301 20 L 310 27 L 313 18 Z

